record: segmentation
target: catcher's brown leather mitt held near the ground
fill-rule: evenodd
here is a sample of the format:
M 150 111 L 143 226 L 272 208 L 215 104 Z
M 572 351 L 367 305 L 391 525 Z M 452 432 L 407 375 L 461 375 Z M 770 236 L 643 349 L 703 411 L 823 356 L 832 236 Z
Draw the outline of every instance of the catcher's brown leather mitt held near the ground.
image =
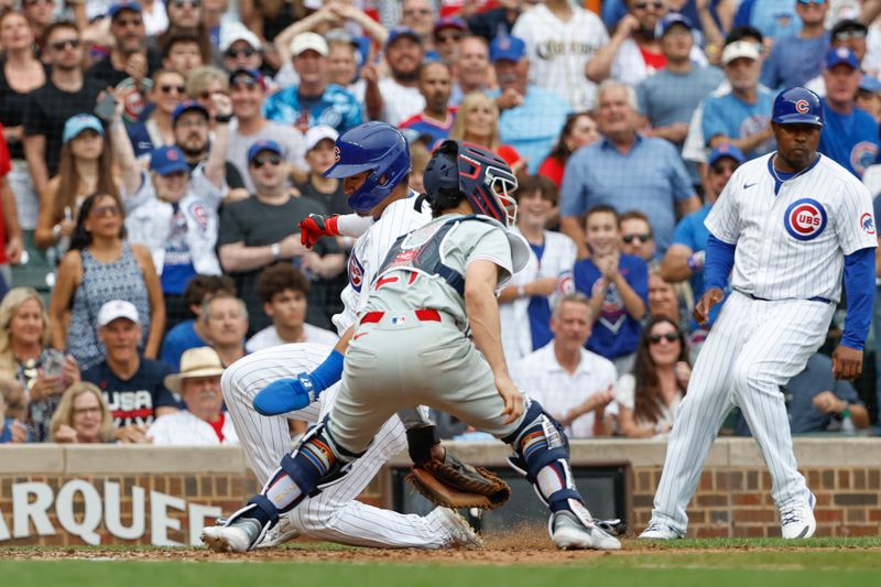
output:
M 426 499 L 446 508 L 494 510 L 511 497 L 511 488 L 483 467 L 466 465 L 449 450 L 445 460 L 413 465 L 406 480 Z

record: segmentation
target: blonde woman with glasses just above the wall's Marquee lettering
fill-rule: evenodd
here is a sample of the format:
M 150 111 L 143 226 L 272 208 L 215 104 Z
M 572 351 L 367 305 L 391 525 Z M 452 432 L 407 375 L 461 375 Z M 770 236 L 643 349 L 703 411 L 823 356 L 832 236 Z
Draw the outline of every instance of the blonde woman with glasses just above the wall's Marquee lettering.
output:
M 70 385 L 52 416 L 52 442 L 65 444 L 112 443 L 113 418 L 101 390 L 85 381 Z

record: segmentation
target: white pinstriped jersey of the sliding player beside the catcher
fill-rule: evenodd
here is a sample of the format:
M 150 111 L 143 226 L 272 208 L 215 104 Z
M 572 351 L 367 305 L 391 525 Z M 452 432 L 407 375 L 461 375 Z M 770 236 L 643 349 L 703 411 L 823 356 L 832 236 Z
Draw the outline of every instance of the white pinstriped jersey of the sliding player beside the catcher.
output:
M 347 268 L 349 284 L 340 295 L 344 309 L 333 318 L 339 336 L 355 324 L 356 315 L 367 304 L 370 284 L 398 237 L 431 221 L 427 202 L 422 203 L 420 210 L 415 209 L 417 197 L 418 194 L 411 192 L 409 197 L 389 204 L 380 219 L 355 241 Z

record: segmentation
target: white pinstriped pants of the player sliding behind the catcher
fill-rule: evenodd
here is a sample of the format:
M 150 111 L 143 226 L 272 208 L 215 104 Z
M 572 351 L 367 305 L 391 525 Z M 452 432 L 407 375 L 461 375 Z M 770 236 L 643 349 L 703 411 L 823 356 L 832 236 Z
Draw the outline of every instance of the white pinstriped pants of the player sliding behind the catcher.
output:
M 290 453 L 287 417 L 317 422 L 333 405 L 339 385 L 322 394 L 322 401 L 281 416 L 262 416 L 253 409 L 254 395 L 270 382 L 312 371 L 330 347 L 316 344 L 281 345 L 249 355 L 225 372 L 220 381 L 229 415 L 244 449 L 248 465 L 261 483 L 278 470 Z M 286 515 L 308 536 L 356 546 L 442 548 L 450 534 L 435 515 L 401 514 L 356 501 L 382 465 L 406 448 L 406 433 L 398 416 L 377 434 L 367 453 L 346 478 L 314 498 L 307 498 Z

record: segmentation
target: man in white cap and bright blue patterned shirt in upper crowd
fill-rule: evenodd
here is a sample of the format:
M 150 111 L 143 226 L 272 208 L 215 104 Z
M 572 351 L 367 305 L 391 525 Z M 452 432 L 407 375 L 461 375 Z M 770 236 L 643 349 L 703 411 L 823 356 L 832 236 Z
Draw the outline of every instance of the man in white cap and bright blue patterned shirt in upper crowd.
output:
M 263 115 L 305 132 L 327 124 L 342 132 L 361 123 L 361 105 L 347 89 L 326 80 L 327 41 L 318 33 L 300 33 L 291 42 L 291 58 L 300 84 L 267 98 Z

